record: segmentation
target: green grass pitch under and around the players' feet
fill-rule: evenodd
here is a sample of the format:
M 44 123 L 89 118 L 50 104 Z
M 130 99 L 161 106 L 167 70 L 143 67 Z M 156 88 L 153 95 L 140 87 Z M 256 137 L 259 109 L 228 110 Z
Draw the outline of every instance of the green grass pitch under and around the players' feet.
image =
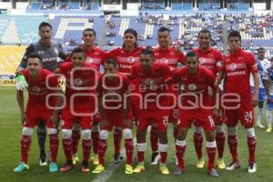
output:
M 0 181 L 1 182 L 91 182 L 96 179 L 96 175 L 89 173 L 83 174 L 80 172 L 80 166 L 76 166 L 71 172 L 66 174 L 55 173 L 50 174 L 47 167 L 39 167 L 38 165 L 38 147 L 36 141 L 36 135 L 34 133 L 32 147 L 29 153 L 29 165 L 30 170 L 20 174 L 15 174 L 13 169 L 19 164 L 20 161 L 20 138 L 22 132 L 22 126 L 20 123 L 19 108 L 15 101 L 15 87 L 0 87 Z M 169 136 L 169 153 L 167 166 L 171 171 L 174 170 L 174 155 L 175 155 L 175 143 L 172 138 L 172 126 L 168 128 Z M 238 152 L 241 162 L 241 168 L 236 171 L 218 170 L 219 177 L 212 178 L 207 176 L 207 169 L 197 169 L 195 164 L 197 157 L 193 147 L 192 132 L 187 136 L 187 151 L 186 151 L 186 173 L 182 176 L 163 176 L 158 172 L 158 167 L 149 166 L 150 160 L 150 147 L 147 144 L 146 153 L 146 171 L 139 175 L 125 175 L 124 163 L 116 168 L 113 175 L 108 178 L 109 182 L 121 182 L 121 181 L 171 181 L 171 182 L 197 182 L 197 181 L 217 181 L 217 182 L 270 182 L 273 181 L 272 168 L 273 168 L 273 134 L 268 134 L 265 130 L 256 129 L 258 137 L 257 147 L 257 164 L 258 172 L 256 174 L 248 174 L 248 146 L 246 132 L 242 126 L 238 126 Z M 110 135 L 112 137 L 112 134 Z M 107 164 L 112 161 L 113 158 L 113 139 L 110 138 L 109 146 L 106 155 Z M 61 141 L 61 140 L 60 140 Z M 148 140 L 147 140 L 148 141 Z M 48 143 L 48 137 L 46 139 Z M 204 146 L 204 145 L 203 145 Z M 47 147 L 48 148 L 48 147 Z M 81 148 L 81 147 L 79 147 Z M 81 150 L 79 151 L 81 154 Z M 207 158 L 205 147 L 203 149 L 204 157 Z M 228 164 L 231 161 L 229 155 L 227 143 L 225 150 L 225 161 Z M 207 162 L 207 161 L 206 161 Z M 65 163 L 65 157 L 62 145 L 59 146 L 59 154 L 57 159 L 58 166 L 62 166 Z M 90 166 L 90 169 L 94 169 L 94 166 Z

